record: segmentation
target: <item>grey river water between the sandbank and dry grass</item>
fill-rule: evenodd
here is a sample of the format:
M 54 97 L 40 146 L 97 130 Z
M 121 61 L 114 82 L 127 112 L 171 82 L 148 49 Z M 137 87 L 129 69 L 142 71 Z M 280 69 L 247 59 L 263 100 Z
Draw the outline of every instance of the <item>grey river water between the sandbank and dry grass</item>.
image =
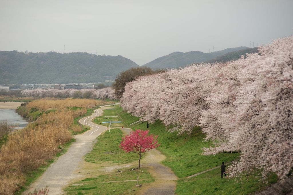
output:
M 28 119 L 24 118 L 13 109 L 0 109 L 0 120 L 7 120 L 9 123 L 16 124 L 16 129 L 25 128 L 28 125 Z

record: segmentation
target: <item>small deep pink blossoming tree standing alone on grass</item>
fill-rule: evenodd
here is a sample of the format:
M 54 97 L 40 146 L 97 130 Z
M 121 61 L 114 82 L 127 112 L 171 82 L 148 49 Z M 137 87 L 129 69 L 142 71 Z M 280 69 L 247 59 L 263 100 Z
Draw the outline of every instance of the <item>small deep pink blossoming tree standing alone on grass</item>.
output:
M 122 138 L 120 143 L 120 148 L 125 152 L 133 152 L 139 154 L 138 167 L 140 169 L 140 159 L 146 152 L 151 151 L 158 147 L 157 137 L 158 135 L 148 135 L 149 130 L 140 130 L 136 129 L 135 131 L 130 132 L 130 135 L 126 135 L 125 138 Z

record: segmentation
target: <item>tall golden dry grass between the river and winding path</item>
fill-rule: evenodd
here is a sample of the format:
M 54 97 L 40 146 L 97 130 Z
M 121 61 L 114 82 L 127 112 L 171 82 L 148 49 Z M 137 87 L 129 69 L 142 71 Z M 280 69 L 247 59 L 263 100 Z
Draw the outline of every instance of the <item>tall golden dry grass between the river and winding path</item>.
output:
M 57 111 L 43 113 L 34 123 L 8 136 L 8 141 L 0 149 L 0 194 L 12 195 L 24 185 L 26 174 L 54 158 L 60 151 L 58 146 L 72 138 L 68 129 L 74 127 L 74 118 L 96 104 L 96 100 L 87 99 L 38 100 L 28 103 L 28 108 Z M 74 111 L 66 107 L 83 108 Z M 79 130 L 74 127 L 74 131 Z

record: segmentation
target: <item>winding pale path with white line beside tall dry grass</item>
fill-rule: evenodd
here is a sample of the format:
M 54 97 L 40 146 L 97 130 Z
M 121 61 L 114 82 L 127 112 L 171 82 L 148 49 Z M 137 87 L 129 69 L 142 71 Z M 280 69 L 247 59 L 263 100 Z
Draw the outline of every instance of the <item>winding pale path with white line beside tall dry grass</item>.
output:
M 69 180 L 79 177 L 79 175 L 75 174 L 75 171 L 79 168 L 79 162 L 81 162 L 84 155 L 91 150 L 93 141 L 96 137 L 108 129 L 105 126 L 92 123 L 91 119 L 101 116 L 102 110 L 106 108 L 107 107 L 105 106 L 101 106 L 101 108 L 96 110 L 96 113 L 93 113 L 92 116 L 80 120 L 80 123 L 82 124 L 88 122 L 88 126 L 92 129 L 88 130 L 83 135 L 74 135 L 76 141 L 72 143 L 67 152 L 58 157 L 58 159 L 42 174 L 42 176 L 32 183 L 28 190 L 23 192 L 24 195 L 33 192 L 35 189 L 38 190 L 45 188 L 46 186 L 49 188 L 49 195 L 59 195 L 62 194 L 62 187 L 69 184 Z M 89 118 L 89 120 L 87 120 L 87 118 Z

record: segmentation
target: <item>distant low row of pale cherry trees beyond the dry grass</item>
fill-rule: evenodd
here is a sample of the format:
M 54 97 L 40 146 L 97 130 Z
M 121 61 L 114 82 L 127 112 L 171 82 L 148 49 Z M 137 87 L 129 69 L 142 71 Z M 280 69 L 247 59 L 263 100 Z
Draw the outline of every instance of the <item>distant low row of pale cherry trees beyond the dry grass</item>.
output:
M 33 96 L 33 97 L 74 97 L 74 98 L 109 98 L 115 99 L 114 89 L 111 87 L 103 89 L 33 89 L 21 91 L 22 96 Z

